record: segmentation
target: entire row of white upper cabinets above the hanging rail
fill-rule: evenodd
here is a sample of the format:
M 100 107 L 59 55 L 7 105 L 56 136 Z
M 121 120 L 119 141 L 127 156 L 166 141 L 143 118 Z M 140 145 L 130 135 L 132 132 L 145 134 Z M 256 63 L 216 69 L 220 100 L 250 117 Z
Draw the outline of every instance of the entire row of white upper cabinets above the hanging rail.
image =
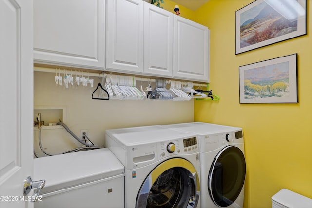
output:
M 34 0 L 34 62 L 209 82 L 209 30 L 143 0 Z

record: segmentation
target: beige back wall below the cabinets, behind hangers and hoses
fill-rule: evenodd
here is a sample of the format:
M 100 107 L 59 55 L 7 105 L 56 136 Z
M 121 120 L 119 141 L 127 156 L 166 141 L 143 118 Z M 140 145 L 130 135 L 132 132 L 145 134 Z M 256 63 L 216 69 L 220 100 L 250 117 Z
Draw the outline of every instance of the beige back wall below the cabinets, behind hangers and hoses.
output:
M 88 130 L 88 137 L 99 147 L 105 147 L 105 129 L 194 121 L 193 100 L 92 100 L 97 77 L 92 77 L 93 88 L 90 85 L 65 88 L 56 85 L 54 76 L 53 73 L 34 72 L 34 105 L 66 106 L 66 125 L 78 136 L 80 130 Z M 141 84 L 144 88 L 148 83 L 137 82 L 137 87 Z M 44 120 L 44 114 L 41 116 Z M 66 130 L 51 131 L 42 131 L 42 144 L 47 151 L 56 153 L 81 146 Z M 34 140 L 38 145 L 37 129 L 34 129 Z

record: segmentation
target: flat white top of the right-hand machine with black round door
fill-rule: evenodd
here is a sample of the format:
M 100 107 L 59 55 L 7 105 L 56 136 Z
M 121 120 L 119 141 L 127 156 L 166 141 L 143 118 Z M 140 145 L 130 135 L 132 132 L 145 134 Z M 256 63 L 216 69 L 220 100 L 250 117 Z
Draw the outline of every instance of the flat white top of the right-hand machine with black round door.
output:
M 181 124 L 172 124 L 172 125 L 164 125 L 164 126 L 167 128 L 174 128 L 174 129 L 179 129 L 179 130 L 183 130 L 187 132 L 194 132 L 200 135 L 242 130 L 239 127 L 224 126 L 224 125 L 203 123 L 203 122 L 181 123 Z

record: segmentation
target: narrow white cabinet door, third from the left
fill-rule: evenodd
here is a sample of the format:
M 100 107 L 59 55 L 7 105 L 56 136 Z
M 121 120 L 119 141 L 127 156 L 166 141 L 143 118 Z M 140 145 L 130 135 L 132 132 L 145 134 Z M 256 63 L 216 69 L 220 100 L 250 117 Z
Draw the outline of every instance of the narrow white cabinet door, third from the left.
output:
M 173 75 L 173 14 L 144 4 L 144 74 Z

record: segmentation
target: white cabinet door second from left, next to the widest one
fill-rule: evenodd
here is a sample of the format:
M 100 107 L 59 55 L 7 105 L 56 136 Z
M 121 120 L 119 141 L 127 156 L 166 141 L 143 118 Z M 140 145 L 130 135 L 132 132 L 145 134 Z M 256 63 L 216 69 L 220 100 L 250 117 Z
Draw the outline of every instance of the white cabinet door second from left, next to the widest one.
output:
M 108 0 L 106 19 L 106 68 L 143 73 L 142 0 Z

